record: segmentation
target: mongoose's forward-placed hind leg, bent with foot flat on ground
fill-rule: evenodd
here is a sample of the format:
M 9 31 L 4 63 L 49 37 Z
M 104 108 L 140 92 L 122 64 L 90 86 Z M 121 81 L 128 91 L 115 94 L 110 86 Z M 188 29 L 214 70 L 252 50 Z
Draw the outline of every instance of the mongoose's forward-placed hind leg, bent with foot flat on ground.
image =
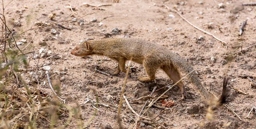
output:
M 148 77 L 138 77 L 138 79 L 143 82 L 153 81 L 155 79 L 155 72 L 157 71 L 157 68 L 150 66 L 147 63 L 143 63 L 143 65 Z

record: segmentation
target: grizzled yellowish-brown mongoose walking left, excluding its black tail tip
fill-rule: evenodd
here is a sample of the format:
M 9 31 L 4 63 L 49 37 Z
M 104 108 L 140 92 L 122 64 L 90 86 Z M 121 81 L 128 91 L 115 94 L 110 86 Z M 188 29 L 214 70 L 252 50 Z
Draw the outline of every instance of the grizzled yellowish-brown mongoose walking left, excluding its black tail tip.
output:
M 126 73 L 125 61 L 132 58 L 132 61 L 143 64 L 148 75 L 148 77 L 138 77 L 140 81 L 154 80 L 157 69 L 162 69 L 176 83 L 181 79 L 180 70 L 186 74 L 192 71 L 188 75 L 189 81 L 193 83 L 203 98 L 207 100 L 210 98 L 210 94 L 204 89 L 193 67 L 185 59 L 147 40 L 138 38 L 91 39 L 76 46 L 71 54 L 75 56 L 103 55 L 116 60 L 117 70 L 112 75 L 117 75 L 121 71 Z M 182 99 L 186 99 L 184 83 L 180 81 L 177 85 L 180 87 Z

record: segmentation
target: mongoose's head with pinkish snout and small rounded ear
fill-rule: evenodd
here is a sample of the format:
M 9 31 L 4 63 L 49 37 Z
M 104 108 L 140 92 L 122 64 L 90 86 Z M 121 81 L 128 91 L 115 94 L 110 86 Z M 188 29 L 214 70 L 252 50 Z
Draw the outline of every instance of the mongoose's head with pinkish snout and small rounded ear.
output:
M 70 53 L 75 56 L 91 55 L 91 46 L 87 41 L 85 41 L 76 46 Z

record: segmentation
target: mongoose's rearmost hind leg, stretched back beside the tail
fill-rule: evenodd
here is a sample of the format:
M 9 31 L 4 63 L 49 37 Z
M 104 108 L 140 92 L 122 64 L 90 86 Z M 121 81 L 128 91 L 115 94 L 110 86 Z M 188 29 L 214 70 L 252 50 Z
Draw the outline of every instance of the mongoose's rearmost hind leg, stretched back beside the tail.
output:
M 165 66 L 161 67 L 163 71 L 169 76 L 170 79 L 174 83 L 178 82 L 181 79 L 180 72 L 173 69 L 173 68 L 167 68 Z M 181 93 L 182 93 L 182 99 L 187 99 L 187 93 L 185 91 L 184 83 L 182 81 L 177 83 L 178 87 L 180 87 Z

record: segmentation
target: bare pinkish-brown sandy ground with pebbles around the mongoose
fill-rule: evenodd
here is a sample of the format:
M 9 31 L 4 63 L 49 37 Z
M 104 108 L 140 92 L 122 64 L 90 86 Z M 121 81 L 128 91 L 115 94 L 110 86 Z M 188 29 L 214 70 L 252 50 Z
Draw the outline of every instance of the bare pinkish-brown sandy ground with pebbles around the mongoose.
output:
M 76 7 L 78 10 L 74 10 L 77 14 L 68 17 L 66 20 L 79 18 L 88 13 L 95 12 L 92 15 L 83 17 L 84 24 L 81 26 L 78 22 L 72 21 L 59 23 L 65 27 L 70 27 L 71 30 L 60 26 L 42 28 L 35 36 L 34 43 L 26 49 L 27 51 L 33 49 L 39 51 L 40 48 L 45 48 L 39 45 L 39 43 L 45 42 L 48 46 L 46 47 L 47 50 L 62 57 L 61 59 L 43 57 L 39 59 L 39 64 L 49 64 L 52 69 L 51 79 L 60 81 L 60 96 L 66 99 L 69 106 L 75 106 L 76 103 L 83 104 L 84 101 L 90 99 L 88 103 L 80 106 L 84 125 L 94 113 L 92 105 L 94 105 L 93 101 L 96 100 L 89 86 L 93 86 L 97 90 L 99 102 L 109 105 L 109 107 L 102 105 L 98 107 L 99 110 L 90 122 L 89 128 L 110 128 L 110 126 L 114 128 L 117 118 L 117 107 L 115 105 L 119 103 L 125 73 L 121 73 L 113 78 L 98 72 L 94 73 L 94 68 L 97 67 L 99 70 L 110 74 L 116 70 L 117 62 L 108 57 L 98 55 L 84 58 L 76 57 L 71 55 L 70 52 L 72 48 L 87 38 L 95 40 L 106 38 L 104 34 L 110 33 L 115 27 L 121 30 L 121 32 L 112 37 L 129 34 L 131 37 L 150 40 L 186 58 L 199 73 L 205 88 L 218 97 L 222 91 L 224 77 L 230 79 L 229 87 L 232 86 L 248 93 L 244 95 L 231 90 L 231 97 L 229 102 L 227 102 L 238 116 L 241 117 L 242 121 L 223 105 L 214 110 L 214 119 L 207 121 L 206 109 L 208 104 L 202 100 L 199 92 L 186 88 L 188 99 L 184 101 L 181 100 L 180 89 L 174 86 L 165 95 L 169 96 L 166 101 L 173 100 L 175 104 L 170 107 L 170 110 L 157 117 L 159 123 L 165 123 L 165 126 L 168 128 L 198 128 L 200 124 L 203 124 L 204 128 L 256 128 L 255 112 L 252 112 L 246 118 L 252 106 L 256 107 L 256 87 L 251 87 L 250 81 L 247 78 L 238 77 L 244 74 L 256 76 L 256 46 L 250 47 L 244 50 L 244 52 L 233 54 L 229 58 L 224 58 L 233 52 L 241 50 L 241 48 L 244 49 L 256 43 L 256 7 L 241 5 L 241 3 L 249 2 L 252 1 L 120 0 L 119 3 L 113 3 L 112 0 L 14 0 L 5 10 L 5 16 L 10 21 L 10 24 L 15 20 L 20 20 L 21 26 L 14 28 L 18 34 L 31 27 L 36 27 L 34 23 L 37 21 L 46 21 L 49 18 L 48 15 L 52 12 L 56 12 L 57 15 L 47 23 L 54 23 L 65 19 L 71 14 L 70 9 L 65 8 L 65 6 L 68 6 L 67 4 L 71 4 L 72 7 Z M 4 1 L 4 3 L 6 5 L 8 1 Z M 87 7 L 83 3 L 112 5 L 99 7 L 106 9 L 99 10 L 93 9 L 94 7 L 91 6 Z M 220 3 L 224 4 L 221 8 L 218 6 Z M 170 8 L 175 7 L 192 24 L 228 42 L 229 46 L 224 46 L 212 36 L 196 30 L 182 20 L 177 13 L 169 12 L 164 5 Z M 16 10 L 23 9 L 24 6 L 27 8 L 23 10 L 21 19 L 19 19 L 19 12 L 16 12 Z M 110 15 L 113 16 L 108 17 Z M 169 15 L 174 17 L 171 18 Z M 97 19 L 96 22 L 90 22 L 93 17 Z M 246 19 L 247 24 L 244 28 L 244 33 L 241 37 L 238 37 L 238 30 Z M 213 24 L 210 27 L 204 25 L 211 22 Z M 100 26 L 101 23 L 103 24 Z M 172 29 L 167 30 L 170 27 Z M 57 35 L 51 34 L 52 28 L 57 30 Z M 20 39 L 30 41 L 35 31 L 26 32 L 20 36 Z M 25 46 L 26 43 L 20 47 Z M 30 67 L 34 67 L 36 64 L 35 60 L 32 59 L 33 56 L 34 54 L 27 56 L 28 60 L 30 60 Z M 146 76 L 145 70 L 140 64 L 132 62 L 132 66 L 138 72 L 132 72 L 132 77 L 127 79 L 124 94 L 128 100 L 146 95 L 156 85 L 157 89 L 159 89 L 173 84 L 161 70 L 156 74 L 156 82 L 139 82 L 136 77 Z M 54 71 L 63 69 L 68 73 L 54 73 Z M 40 70 L 44 71 L 42 68 Z M 44 82 L 46 83 L 44 84 Z M 187 78 L 185 78 L 184 83 L 185 86 L 193 88 Z M 39 84 L 48 93 L 52 93 L 45 77 L 39 80 Z M 158 96 L 164 91 L 164 89 L 159 90 L 153 95 Z M 131 106 L 139 113 L 144 102 L 131 103 Z M 155 105 L 161 106 L 161 103 L 157 101 Z M 134 119 L 135 116 L 126 104 L 123 105 L 122 109 L 123 126 L 124 128 L 131 128 L 134 123 L 132 118 Z M 150 108 L 145 116 L 153 118 L 161 111 L 162 109 Z M 67 117 L 61 117 L 59 125 L 63 125 L 66 121 Z M 229 127 L 226 127 L 229 122 Z M 38 125 L 38 127 L 47 128 L 48 125 Z M 67 128 L 76 128 L 76 120 L 72 119 L 71 124 Z M 151 128 L 151 126 L 144 125 L 142 128 Z

